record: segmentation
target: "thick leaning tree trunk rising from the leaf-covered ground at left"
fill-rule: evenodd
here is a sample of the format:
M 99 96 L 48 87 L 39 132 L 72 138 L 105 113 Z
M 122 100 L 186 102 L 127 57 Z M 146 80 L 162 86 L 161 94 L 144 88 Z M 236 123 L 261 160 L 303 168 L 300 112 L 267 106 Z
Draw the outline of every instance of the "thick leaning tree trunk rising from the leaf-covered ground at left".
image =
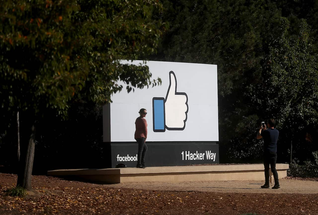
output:
M 24 187 L 27 190 L 31 190 L 31 175 L 33 168 L 33 158 L 34 158 L 34 149 L 35 149 L 35 125 L 34 123 L 31 126 L 31 135 L 28 140 L 27 149 L 25 153 L 21 155 L 23 158 L 19 162 L 19 172 L 17 179 L 17 186 Z

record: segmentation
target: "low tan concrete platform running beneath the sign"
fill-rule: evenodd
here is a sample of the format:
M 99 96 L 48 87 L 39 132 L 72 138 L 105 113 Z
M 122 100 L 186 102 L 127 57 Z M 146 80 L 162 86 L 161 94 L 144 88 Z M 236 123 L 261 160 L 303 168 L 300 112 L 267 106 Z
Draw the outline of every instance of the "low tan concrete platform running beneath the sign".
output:
M 276 164 L 279 178 L 287 176 L 288 164 Z M 209 165 L 209 166 L 161 166 L 109 169 L 69 169 L 48 171 L 49 176 L 73 176 L 90 181 L 105 183 L 125 182 L 182 182 L 182 181 L 233 181 L 264 180 L 264 166 L 250 165 Z

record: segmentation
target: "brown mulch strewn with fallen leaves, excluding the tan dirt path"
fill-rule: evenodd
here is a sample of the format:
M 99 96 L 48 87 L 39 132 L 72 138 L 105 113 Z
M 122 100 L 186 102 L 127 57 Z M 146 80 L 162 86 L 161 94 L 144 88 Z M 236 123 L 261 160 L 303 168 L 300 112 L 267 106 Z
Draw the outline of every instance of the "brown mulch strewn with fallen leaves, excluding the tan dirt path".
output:
M 317 213 L 317 194 L 242 194 L 160 191 L 32 176 L 33 192 L 25 198 L 5 196 L 16 177 L 0 173 L 0 214 L 264 214 Z M 244 197 L 244 198 L 242 198 Z M 252 203 L 252 201 L 254 201 Z M 294 202 L 293 202 L 294 201 Z M 274 205 L 278 205 L 273 207 Z M 273 208 L 275 211 L 270 211 Z

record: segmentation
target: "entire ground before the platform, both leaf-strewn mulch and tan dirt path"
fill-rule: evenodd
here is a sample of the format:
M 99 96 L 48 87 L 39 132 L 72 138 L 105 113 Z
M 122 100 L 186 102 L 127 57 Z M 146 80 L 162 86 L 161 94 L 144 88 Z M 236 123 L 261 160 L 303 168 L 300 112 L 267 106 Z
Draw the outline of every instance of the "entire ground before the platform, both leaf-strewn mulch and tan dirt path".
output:
M 98 184 L 32 176 L 24 198 L 5 195 L 17 176 L 0 173 L 0 214 L 318 214 L 318 179 Z M 273 185 L 273 184 L 272 184 Z

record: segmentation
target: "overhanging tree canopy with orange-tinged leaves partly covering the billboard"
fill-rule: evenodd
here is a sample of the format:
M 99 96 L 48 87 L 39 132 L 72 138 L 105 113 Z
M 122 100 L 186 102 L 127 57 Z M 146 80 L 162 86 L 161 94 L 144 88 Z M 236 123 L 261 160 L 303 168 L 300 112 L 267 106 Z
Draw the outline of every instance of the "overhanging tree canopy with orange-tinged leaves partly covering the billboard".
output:
M 121 65 L 155 53 L 162 10 L 156 0 L 1 1 L 0 107 L 1 112 L 46 109 L 66 115 L 74 96 L 96 103 L 111 102 L 150 80 L 147 66 Z

